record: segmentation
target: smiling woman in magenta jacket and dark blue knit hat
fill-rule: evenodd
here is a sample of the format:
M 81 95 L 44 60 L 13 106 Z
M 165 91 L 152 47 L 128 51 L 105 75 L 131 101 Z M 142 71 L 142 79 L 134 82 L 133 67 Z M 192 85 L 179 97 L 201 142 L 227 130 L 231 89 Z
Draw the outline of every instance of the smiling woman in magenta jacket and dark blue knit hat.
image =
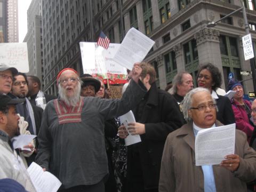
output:
M 243 99 L 244 89 L 243 85 L 237 81 L 228 83 L 228 91 L 233 90 L 236 92 L 233 99 L 231 99 L 232 109 L 236 119 L 236 129 L 246 133 L 247 141 L 250 143 L 252 132 L 254 130 L 253 123 L 251 122 L 251 103 Z

